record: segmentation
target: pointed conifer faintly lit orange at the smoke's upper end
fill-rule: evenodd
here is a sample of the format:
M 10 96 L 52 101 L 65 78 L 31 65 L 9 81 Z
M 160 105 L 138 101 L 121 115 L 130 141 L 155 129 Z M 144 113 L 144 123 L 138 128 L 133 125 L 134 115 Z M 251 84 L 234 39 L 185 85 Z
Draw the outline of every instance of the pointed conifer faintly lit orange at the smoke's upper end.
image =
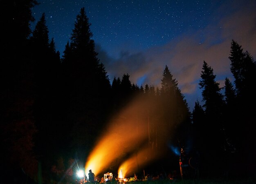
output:
M 181 135 L 188 133 L 190 112 L 184 95 L 178 88 L 178 82 L 173 78 L 167 66 L 165 66 L 161 80 L 160 99 L 164 111 L 163 121 L 166 122 L 166 131 L 173 130 L 175 133 L 173 133 L 173 137 L 170 137 L 171 140 L 176 144 L 177 140 L 180 140 L 180 144 L 185 146 L 188 137 Z

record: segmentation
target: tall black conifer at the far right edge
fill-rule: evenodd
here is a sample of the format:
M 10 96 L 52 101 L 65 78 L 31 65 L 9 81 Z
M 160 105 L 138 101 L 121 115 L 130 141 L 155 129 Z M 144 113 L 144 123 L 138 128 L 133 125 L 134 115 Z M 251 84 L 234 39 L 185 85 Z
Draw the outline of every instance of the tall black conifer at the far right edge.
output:
M 254 58 L 247 51 L 244 52 L 241 45 L 232 40 L 229 60 L 231 61 L 230 71 L 235 78 L 236 104 L 234 105 L 236 124 L 233 134 L 238 146 L 238 153 L 241 160 L 241 167 L 246 167 L 245 173 L 251 173 L 255 169 L 253 164 L 247 166 L 246 163 L 256 163 L 253 154 L 256 152 L 256 64 Z M 243 123 L 242 123 L 243 122 Z

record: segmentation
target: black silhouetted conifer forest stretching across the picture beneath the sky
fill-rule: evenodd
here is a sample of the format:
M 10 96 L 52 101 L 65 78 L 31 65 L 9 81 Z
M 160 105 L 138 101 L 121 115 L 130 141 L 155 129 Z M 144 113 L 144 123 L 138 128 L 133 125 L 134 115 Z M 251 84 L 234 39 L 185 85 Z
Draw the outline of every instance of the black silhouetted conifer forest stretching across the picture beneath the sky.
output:
M 179 155 L 171 149 L 175 147 L 200 155 L 195 177 L 253 176 L 256 63 L 235 40 L 227 56 L 234 84 L 226 78 L 222 89 L 213 68 L 202 61 L 203 101 L 190 110 L 168 66 L 163 66 L 159 87 L 132 84 L 128 73 L 110 82 L 84 8 L 61 57 L 49 38 L 45 13 L 30 30 L 35 5 L 36 0 L 7 2 L 13 14 L 1 17 L 0 183 L 74 182 L 76 163 L 85 164 L 106 130 L 120 133 L 115 129 L 120 120 L 123 136 L 136 130 L 145 135 L 133 149 L 146 146 L 150 154 L 162 153 L 140 172 L 180 172 Z M 128 111 L 131 106 L 135 110 Z M 119 151 L 122 156 L 107 166 L 113 172 L 131 155 L 125 146 Z

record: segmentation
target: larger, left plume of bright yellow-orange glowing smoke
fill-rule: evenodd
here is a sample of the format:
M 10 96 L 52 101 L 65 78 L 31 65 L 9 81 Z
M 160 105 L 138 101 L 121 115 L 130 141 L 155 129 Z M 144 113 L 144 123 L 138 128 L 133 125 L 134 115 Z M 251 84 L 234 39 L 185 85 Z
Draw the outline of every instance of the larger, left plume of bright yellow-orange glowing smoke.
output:
M 137 104 L 132 104 L 112 120 L 106 134 L 89 155 L 86 171 L 92 169 L 97 175 L 110 165 L 119 164 L 119 158 L 124 157 L 126 152 L 134 151 L 147 138 L 147 131 L 143 131 L 144 124 L 139 123 L 136 117 L 137 108 Z

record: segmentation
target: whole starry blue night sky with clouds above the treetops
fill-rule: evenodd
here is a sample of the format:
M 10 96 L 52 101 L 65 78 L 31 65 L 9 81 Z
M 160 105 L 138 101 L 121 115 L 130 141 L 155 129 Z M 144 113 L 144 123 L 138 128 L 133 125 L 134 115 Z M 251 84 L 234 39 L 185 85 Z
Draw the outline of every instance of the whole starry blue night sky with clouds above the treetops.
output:
M 167 65 L 191 111 L 202 95 L 205 60 L 223 87 L 230 72 L 231 40 L 256 57 L 255 0 L 37 0 L 36 22 L 46 15 L 49 38 L 63 55 L 76 16 L 85 7 L 98 58 L 114 76 L 138 86 L 159 86 Z

